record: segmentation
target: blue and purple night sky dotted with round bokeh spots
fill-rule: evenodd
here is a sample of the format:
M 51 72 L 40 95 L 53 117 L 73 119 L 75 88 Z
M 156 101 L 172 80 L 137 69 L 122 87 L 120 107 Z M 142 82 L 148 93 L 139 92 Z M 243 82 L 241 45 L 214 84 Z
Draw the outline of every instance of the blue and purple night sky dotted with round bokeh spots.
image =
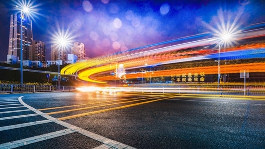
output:
M 19 0 L 14 0 L 19 1 Z M 0 61 L 6 61 L 10 14 L 15 2 L 0 0 Z M 20 0 L 21 1 L 21 0 Z M 26 0 L 28 1 L 28 0 Z M 69 29 L 71 44 L 83 42 L 87 57 L 209 31 L 224 20 L 244 27 L 265 22 L 264 0 L 31 0 L 33 39 L 46 44 L 50 60 L 52 36 Z M 218 16 L 219 15 L 219 16 Z M 231 16 L 231 17 L 229 17 Z M 70 52 L 70 47 L 66 50 Z

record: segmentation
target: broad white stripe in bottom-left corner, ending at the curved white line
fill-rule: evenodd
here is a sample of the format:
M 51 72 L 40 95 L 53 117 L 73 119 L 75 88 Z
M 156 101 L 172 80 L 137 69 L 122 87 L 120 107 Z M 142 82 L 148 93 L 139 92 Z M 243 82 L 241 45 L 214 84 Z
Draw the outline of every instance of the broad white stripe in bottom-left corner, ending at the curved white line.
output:
M 0 144 L 0 148 L 1 149 L 2 148 L 4 148 L 4 149 L 17 148 L 17 147 L 25 146 L 28 144 L 44 141 L 47 139 L 71 134 L 74 132 L 75 131 L 73 131 L 71 129 L 64 129 L 64 130 L 60 130 L 57 132 L 47 133 L 47 134 L 43 134 L 43 135 L 39 135 L 39 136 L 34 136 L 34 137 L 26 138 L 26 139 L 21 139 L 21 140 L 17 140 L 17 141 L 12 141 L 12 142 L 8 142 L 8 143 Z

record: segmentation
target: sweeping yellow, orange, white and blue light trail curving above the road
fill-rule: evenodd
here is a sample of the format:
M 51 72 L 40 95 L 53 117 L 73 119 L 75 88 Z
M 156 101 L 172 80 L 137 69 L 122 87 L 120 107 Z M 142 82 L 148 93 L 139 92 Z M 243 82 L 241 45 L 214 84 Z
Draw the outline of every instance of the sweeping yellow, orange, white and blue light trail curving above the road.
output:
M 255 37 L 264 37 L 264 36 L 265 36 L 265 28 L 247 30 L 237 34 L 238 40 L 255 38 Z M 113 65 L 111 65 L 112 63 L 123 64 L 126 70 L 130 70 L 130 69 L 146 67 L 144 66 L 145 63 L 148 63 L 149 66 L 152 66 L 156 64 L 165 65 L 165 64 L 173 64 L 180 62 L 216 59 L 218 57 L 217 55 L 218 51 L 214 49 L 201 49 L 201 50 L 190 50 L 190 51 L 188 50 L 183 51 L 183 50 L 188 48 L 214 45 L 217 43 L 218 40 L 219 40 L 218 37 L 211 37 L 211 38 L 190 41 L 186 43 L 170 45 L 165 47 L 161 47 L 163 45 L 158 44 L 154 45 L 153 49 L 151 47 L 143 47 L 142 49 L 138 48 L 135 50 L 118 52 L 102 57 L 93 58 L 85 62 L 78 62 L 76 64 L 68 65 L 61 70 L 61 74 L 76 74 L 81 80 L 84 81 L 106 83 L 106 80 L 118 79 L 110 75 L 110 72 L 114 70 L 113 68 L 115 68 L 113 67 Z M 264 58 L 265 43 L 245 45 L 229 49 L 221 49 L 220 53 L 221 53 L 220 55 L 221 60 Z M 256 68 L 256 71 L 251 69 L 253 70 L 252 72 L 257 72 L 260 70 L 262 70 L 261 72 L 264 72 L 264 67 L 262 65 L 258 64 L 257 67 L 255 66 L 254 68 Z M 232 65 L 230 66 L 232 67 Z M 233 67 L 239 67 L 239 66 L 234 65 Z M 258 67 L 261 67 L 261 69 L 258 69 Z M 190 68 L 190 69 L 198 69 L 198 68 Z M 208 71 L 204 72 L 207 72 L 209 74 L 216 74 L 217 72 L 216 71 L 217 67 L 213 68 L 209 67 L 205 69 L 207 69 Z M 238 69 L 235 70 L 238 71 Z M 154 73 L 154 76 L 158 76 L 156 74 L 163 76 L 170 76 L 168 74 L 162 74 L 162 73 L 167 73 L 169 71 L 156 72 Z M 223 70 L 222 68 L 222 71 L 225 70 Z M 234 73 L 235 71 L 229 70 L 227 72 Z M 97 74 L 105 74 L 105 76 L 97 76 Z M 126 78 L 137 78 L 137 77 L 139 77 L 139 75 L 136 76 L 135 74 L 135 76 L 133 76 L 133 74 L 126 74 Z

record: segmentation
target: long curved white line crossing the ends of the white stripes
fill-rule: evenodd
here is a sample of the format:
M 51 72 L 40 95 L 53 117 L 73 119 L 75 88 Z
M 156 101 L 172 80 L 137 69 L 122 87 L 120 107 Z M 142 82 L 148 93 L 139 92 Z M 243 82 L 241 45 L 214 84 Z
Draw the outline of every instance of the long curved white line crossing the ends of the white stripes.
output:
M 40 116 L 43 116 L 44 118 L 46 118 L 46 119 L 48 119 L 48 120 L 50 120 L 52 122 L 55 122 L 55 123 L 57 123 L 59 125 L 62 125 L 64 127 L 66 127 L 66 128 L 69 128 L 69 129 L 71 129 L 71 130 L 73 130 L 75 132 L 78 132 L 78 133 L 80 133 L 82 135 L 85 135 L 85 136 L 87 136 L 87 137 L 89 137 L 91 139 L 94 139 L 94 140 L 98 141 L 98 142 L 101 142 L 103 144 L 106 144 L 107 146 L 111 146 L 111 148 L 114 148 L 114 149 L 135 149 L 133 147 L 127 146 L 125 144 L 119 143 L 117 141 L 114 141 L 114 140 L 111 140 L 111 139 L 108 139 L 108 138 L 105 138 L 103 136 L 99 136 L 99 135 L 94 134 L 92 132 L 89 132 L 89 131 L 87 131 L 85 129 L 79 128 L 79 127 L 74 126 L 74 125 L 71 125 L 69 123 L 60 121 L 60 120 L 58 120 L 58 119 L 56 119 L 56 118 L 54 118 L 52 116 L 49 116 L 49 115 L 47 115 L 47 114 L 45 114 L 45 113 L 43 113 L 43 112 L 41 112 L 41 111 L 39 111 L 39 110 L 37 110 L 37 109 L 35 109 L 33 107 L 27 105 L 25 102 L 23 102 L 22 97 L 23 96 L 20 96 L 18 98 L 19 102 L 22 105 L 24 105 L 28 109 L 32 110 L 33 112 L 37 113 Z

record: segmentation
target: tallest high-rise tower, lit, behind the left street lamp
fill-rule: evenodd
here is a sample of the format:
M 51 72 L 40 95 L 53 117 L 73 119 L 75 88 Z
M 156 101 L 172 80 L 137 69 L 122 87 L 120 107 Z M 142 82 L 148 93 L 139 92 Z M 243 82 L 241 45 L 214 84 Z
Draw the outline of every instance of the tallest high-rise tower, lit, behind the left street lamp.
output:
M 21 24 L 21 14 L 15 13 L 10 16 L 10 30 L 9 30 L 9 47 L 8 55 L 20 56 L 20 24 Z M 23 60 L 29 60 L 29 46 L 33 40 L 32 35 L 32 21 L 26 17 L 22 18 L 22 50 Z M 8 62 L 8 60 L 7 60 Z

